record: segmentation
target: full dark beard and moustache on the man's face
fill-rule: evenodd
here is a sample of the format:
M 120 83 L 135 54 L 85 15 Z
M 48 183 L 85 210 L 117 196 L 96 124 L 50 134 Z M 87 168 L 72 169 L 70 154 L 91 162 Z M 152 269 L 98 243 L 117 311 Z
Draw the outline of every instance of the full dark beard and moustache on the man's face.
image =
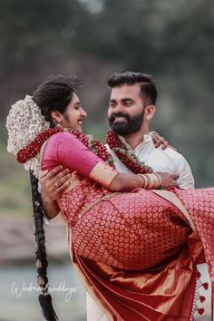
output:
M 116 116 L 124 117 L 127 122 L 114 122 Z M 122 112 L 117 112 L 113 113 L 112 117 L 109 118 L 109 125 L 117 135 L 126 136 L 140 131 L 143 119 L 144 109 L 141 113 L 133 117 Z

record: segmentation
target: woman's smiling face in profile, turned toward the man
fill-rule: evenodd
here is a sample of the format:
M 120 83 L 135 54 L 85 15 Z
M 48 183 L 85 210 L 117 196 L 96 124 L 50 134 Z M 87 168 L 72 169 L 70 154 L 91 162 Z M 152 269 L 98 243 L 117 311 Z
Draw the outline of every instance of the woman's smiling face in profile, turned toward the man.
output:
M 69 127 L 74 131 L 82 132 L 82 122 L 86 116 L 87 113 L 83 110 L 79 98 L 73 93 L 72 102 L 69 103 L 63 114 L 60 113 L 60 124 L 64 128 Z

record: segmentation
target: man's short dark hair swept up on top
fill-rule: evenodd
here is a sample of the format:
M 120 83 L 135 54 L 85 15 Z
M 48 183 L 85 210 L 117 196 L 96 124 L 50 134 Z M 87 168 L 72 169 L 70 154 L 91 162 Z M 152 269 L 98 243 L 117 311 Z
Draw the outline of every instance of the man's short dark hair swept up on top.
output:
M 157 99 L 157 89 L 151 74 L 147 73 L 112 73 L 108 80 L 110 88 L 120 87 L 123 84 L 135 84 L 138 83 L 141 88 L 141 96 L 149 98 L 150 103 L 155 104 Z

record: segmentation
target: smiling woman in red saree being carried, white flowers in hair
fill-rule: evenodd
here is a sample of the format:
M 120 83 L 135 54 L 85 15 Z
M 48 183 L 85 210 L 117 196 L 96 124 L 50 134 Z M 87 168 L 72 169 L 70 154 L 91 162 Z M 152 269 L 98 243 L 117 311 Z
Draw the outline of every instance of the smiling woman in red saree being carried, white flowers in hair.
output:
M 150 191 L 170 187 L 175 177 L 152 173 L 136 161 L 138 175 L 119 174 L 102 144 L 80 132 L 84 116 L 71 79 L 50 79 L 33 100 L 27 96 L 13 106 L 7 119 L 8 150 L 37 177 L 41 149 L 43 170 L 59 164 L 70 169 L 70 185 L 58 203 L 73 264 L 110 319 L 190 320 L 194 267 L 203 256 L 198 233 L 213 281 L 214 190 Z M 17 135 L 24 131 L 27 136 Z M 38 259 L 37 268 L 44 267 Z M 39 279 L 43 289 L 45 277 Z M 54 319 L 53 311 L 45 317 Z

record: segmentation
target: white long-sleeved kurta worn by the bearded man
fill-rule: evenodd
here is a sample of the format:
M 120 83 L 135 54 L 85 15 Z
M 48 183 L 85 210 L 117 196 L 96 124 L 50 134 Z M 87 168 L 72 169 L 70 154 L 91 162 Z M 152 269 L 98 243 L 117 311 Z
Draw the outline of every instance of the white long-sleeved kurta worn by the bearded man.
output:
M 127 144 L 127 142 L 124 140 L 123 137 L 120 137 L 122 143 L 126 145 L 126 147 L 133 151 L 131 147 Z M 125 165 L 122 163 L 121 160 L 119 160 L 116 155 L 110 150 L 109 146 L 106 145 L 108 151 L 111 152 L 112 157 L 114 159 L 114 163 L 116 166 L 116 169 L 119 172 L 127 173 L 131 172 L 128 170 Z M 179 179 L 177 180 L 179 186 L 181 189 L 193 189 L 194 188 L 194 178 L 192 176 L 190 165 L 187 160 L 178 152 L 174 151 L 171 148 L 167 148 L 166 150 L 162 150 L 161 147 L 155 148 L 151 133 L 144 135 L 143 141 L 141 144 L 139 144 L 135 150 L 133 151 L 135 155 L 138 157 L 139 160 L 144 161 L 146 165 L 150 166 L 152 170 L 154 171 L 161 171 L 161 172 L 168 172 L 170 174 L 176 174 L 179 175 Z M 45 219 L 47 224 L 51 225 L 63 225 L 64 221 L 62 218 L 61 213 L 59 213 L 55 218 L 48 220 Z M 207 265 L 203 264 L 200 265 L 199 271 L 202 273 L 202 275 L 208 274 L 208 268 Z M 204 271 L 204 272 L 203 272 Z M 207 280 L 208 277 L 206 277 Z M 211 296 L 210 292 L 210 281 L 209 281 L 209 292 L 206 293 L 206 298 Z M 202 288 L 200 289 L 201 291 Z M 201 293 L 200 295 L 204 296 L 204 293 Z M 210 302 L 209 300 L 206 300 L 206 311 L 210 311 Z M 198 304 L 200 307 L 205 307 L 205 304 L 203 305 Z M 210 315 L 205 316 L 198 316 L 195 314 L 195 320 L 207 320 L 209 321 Z M 103 315 L 102 309 L 100 306 L 98 306 L 93 298 L 87 293 L 87 321 L 108 321 L 108 318 Z

